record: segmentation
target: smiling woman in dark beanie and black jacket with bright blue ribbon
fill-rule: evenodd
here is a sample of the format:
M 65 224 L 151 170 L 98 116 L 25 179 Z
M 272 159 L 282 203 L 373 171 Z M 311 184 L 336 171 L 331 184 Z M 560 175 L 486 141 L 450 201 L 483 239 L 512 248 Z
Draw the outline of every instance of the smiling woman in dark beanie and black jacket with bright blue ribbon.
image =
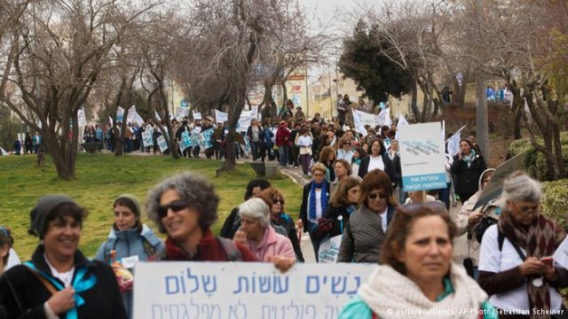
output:
M 42 241 L 31 261 L 0 278 L 8 318 L 126 318 L 113 269 L 77 248 L 85 216 L 67 196 L 39 199 L 28 231 Z

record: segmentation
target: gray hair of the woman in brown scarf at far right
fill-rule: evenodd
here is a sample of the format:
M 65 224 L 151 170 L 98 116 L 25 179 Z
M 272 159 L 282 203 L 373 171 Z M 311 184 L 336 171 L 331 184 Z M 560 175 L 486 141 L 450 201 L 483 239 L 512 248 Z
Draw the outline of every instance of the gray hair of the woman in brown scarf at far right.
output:
M 541 195 L 542 186 L 539 181 L 535 181 L 525 173 L 517 171 L 511 174 L 503 183 L 501 197 L 513 201 L 540 202 Z

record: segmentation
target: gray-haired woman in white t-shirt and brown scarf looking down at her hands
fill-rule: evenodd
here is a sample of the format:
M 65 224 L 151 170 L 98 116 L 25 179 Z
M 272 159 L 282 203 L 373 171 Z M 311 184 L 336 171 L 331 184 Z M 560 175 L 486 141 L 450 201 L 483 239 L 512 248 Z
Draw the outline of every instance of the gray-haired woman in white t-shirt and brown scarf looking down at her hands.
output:
M 481 241 L 477 282 L 489 301 L 509 314 L 501 318 L 566 315 L 558 290 L 568 287 L 568 270 L 551 257 L 565 233 L 540 213 L 541 195 L 539 182 L 520 171 L 510 175 L 503 183 L 499 221 Z

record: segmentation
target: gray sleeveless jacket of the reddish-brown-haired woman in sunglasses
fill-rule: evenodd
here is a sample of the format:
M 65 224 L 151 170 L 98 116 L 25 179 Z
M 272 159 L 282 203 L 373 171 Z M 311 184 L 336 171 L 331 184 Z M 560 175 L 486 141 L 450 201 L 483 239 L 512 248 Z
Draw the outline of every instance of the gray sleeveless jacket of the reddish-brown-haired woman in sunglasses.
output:
M 387 225 L 392 221 L 395 211 L 395 206 L 388 206 Z M 366 206 L 353 212 L 341 238 L 337 262 L 378 263 L 386 233 L 385 230 L 381 231 L 381 225 L 381 216 Z

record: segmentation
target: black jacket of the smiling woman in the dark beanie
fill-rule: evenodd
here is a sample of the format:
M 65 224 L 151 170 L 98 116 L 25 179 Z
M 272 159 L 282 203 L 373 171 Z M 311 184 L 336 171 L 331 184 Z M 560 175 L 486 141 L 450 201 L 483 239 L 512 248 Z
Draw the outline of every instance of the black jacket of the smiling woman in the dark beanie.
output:
M 36 268 L 51 276 L 51 270 L 43 259 L 43 245 L 38 245 L 32 255 Z M 100 261 L 89 261 L 83 253 L 75 253 L 75 274 L 82 266 L 88 268 L 85 278 L 95 276 L 97 284 L 91 289 L 79 292 L 85 303 L 77 307 L 79 318 L 126 318 L 122 305 L 121 292 L 116 284 L 116 276 L 110 266 Z M 59 279 L 54 278 L 63 285 Z M 8 318 L 45 318 L 43 303 L 51 298 L 51 292 L 45 288 L 32 270 L 25 265 L 9 269 L 0 278 L 0 294 L 4 300 Z M 19 307 L 21 306 L 21 308 Z M 62 314 L 59 318 L 65 318 Z

